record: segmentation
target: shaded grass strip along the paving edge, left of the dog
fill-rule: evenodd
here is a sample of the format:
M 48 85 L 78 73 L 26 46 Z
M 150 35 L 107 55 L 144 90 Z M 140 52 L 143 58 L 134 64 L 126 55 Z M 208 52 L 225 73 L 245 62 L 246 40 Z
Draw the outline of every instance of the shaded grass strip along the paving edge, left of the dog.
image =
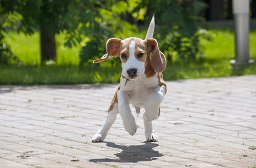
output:
M 120 79 L 120 68 L 94 68 L 79 66 L 0 66 L 0 84 L 81 84 L 112 83 Z

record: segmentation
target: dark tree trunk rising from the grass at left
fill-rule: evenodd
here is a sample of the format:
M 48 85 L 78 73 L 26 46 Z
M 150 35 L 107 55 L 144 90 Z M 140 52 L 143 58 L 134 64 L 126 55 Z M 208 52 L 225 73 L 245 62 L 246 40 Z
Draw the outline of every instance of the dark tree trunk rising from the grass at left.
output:
M 41 64 L 53 60 L 56 61 L 55 35 L 40 27 L 40 45 L 41 45 Z

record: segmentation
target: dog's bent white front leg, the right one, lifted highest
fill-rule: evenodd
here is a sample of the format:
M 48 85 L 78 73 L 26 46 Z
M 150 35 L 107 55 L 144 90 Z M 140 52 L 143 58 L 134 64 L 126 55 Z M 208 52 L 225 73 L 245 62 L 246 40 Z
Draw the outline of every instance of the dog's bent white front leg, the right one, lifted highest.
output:
M 163 86 L 157 86 L 151 93 L 145 108 L 145 117 L 149 122 L 159 117 L 159 106 L 163 101 L 164 95 L 165 91 Z

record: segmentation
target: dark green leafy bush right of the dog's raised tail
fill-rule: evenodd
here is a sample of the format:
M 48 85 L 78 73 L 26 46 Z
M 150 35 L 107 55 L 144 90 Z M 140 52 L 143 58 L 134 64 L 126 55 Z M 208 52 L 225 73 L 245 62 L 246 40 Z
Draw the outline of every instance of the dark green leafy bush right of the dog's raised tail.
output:
M 206 5 L 198 0 L 154 1 L 152 12 L 155 12 L 157 28 L 155 36 L 168 61 L 177 55 L 181 60 L 196 60 L 200 54 L 199 38 L 202 31 L 198 22 L 203 20 L 201 12 Z M 204 32 L 204 34 L 207 32 Z M 209 35 L 208 35 L 209 36 Z M 204 36 L 203 36 L 204 37 Z

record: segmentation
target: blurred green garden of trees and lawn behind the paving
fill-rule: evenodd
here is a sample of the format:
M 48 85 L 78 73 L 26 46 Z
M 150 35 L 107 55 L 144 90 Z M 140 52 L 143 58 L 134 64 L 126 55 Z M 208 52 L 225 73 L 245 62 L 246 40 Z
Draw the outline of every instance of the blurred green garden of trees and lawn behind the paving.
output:
M 118 58 L 100 64 L 109 38 L 154 38 L 165 80 L 256 74 L 234 69 L 231 0 L 0 0 L 0 84 L 115 83 Z M 249 55 L 256 58 L 256 0 L 250 0 Z

